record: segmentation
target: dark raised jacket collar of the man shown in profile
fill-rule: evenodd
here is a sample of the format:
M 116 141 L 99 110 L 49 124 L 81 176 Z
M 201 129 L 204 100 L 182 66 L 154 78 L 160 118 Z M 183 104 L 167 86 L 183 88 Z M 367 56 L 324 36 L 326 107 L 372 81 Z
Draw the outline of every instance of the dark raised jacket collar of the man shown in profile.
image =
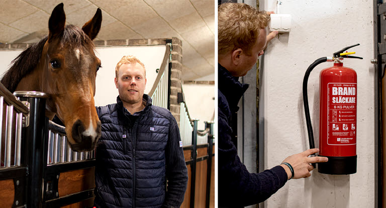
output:
M 226 97 L 231 111 L 238 111 L 237 104 L 248 89 L 248 84 L 242 84 L 238 77 L 233 77 L 225 67 L 219 66 L 219 90 Z

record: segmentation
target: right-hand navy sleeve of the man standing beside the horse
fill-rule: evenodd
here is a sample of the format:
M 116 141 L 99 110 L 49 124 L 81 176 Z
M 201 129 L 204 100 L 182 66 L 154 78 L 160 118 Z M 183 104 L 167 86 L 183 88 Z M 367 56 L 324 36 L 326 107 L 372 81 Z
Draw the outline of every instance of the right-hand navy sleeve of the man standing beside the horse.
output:
M 182 145 L 180 145 L 178 125 L 173 116 L 171 116 L 170 123 L 165 152 L 167 192 L 162 207 L 179 207 L 187 186 L 187 168 Z

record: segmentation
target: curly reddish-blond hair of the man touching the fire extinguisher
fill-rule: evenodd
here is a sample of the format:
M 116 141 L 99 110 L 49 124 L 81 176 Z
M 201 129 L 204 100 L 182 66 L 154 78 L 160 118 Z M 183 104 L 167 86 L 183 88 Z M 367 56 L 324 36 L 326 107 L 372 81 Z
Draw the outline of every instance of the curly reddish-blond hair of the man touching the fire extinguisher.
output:
M 239 3 L 219 6 L 219 55 L 241 48 L 248 55 L 259 37 L 260 29 L 268 26 L 265 12 Z

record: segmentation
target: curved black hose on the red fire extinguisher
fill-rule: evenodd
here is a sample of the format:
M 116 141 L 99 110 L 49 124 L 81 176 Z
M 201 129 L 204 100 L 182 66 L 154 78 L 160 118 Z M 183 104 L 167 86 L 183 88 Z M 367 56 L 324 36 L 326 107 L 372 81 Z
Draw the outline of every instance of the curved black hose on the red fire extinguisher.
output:
M 315 142 L 314 142 L 314 132 L 312 130 L 312 124 L 311 124 L 310 108 L 308 107 L 307 83 L 308 83 L 308 77 L 310 76 L 311 71 L 317 65 L 323 62 L 327 62 L 327 57 L 319 58 L 314 63 L 312 63 L 308 67 L 303 79 L 303 103 L 304 103 L 304 113 L 306 114 L 306 123 L 307 123 L 308 139 L 310 141 L 310 149 L 315 148 Z

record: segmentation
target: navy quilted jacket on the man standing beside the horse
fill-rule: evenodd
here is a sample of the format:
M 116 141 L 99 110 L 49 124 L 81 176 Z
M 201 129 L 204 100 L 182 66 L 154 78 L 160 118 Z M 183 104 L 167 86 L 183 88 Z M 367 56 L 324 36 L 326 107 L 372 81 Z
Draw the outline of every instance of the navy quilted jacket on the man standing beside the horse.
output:
M 187 168 L 177 122 L 167 109 L 151 104 L 130 114 L 117 104 L 97 107 L 102 136 L 96 147 L 97 207 L 179 207 Z M 166 191 L 166 180 L 167 191 Z

